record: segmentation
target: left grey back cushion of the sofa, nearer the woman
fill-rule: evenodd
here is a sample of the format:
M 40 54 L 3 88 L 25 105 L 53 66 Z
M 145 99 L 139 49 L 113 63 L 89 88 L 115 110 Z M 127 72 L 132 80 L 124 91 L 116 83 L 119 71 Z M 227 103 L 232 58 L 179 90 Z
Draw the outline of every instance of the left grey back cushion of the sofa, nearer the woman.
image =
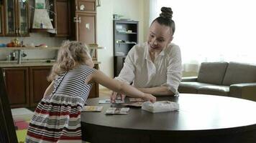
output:
M 198 73 L 198 82 L 222 84 L 227 62 L 203 62 Z

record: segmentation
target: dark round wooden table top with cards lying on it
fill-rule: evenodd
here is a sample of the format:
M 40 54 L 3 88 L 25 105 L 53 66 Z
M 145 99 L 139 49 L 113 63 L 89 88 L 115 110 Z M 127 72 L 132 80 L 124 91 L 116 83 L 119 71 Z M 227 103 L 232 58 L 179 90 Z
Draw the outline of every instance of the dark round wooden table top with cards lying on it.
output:
M 256 129 L 256 102 L 206 94 L 180 94 L 179 97 L 157 97 L 180 104 L 179 111 L 151 113 L 130 108 L 127 115 L 106 115 L 106 109 L 120 104 L 99 104 L 88 99 L 88 105 L 103 106 L 101 112 L 82 112 L 81 122 L 116 129 L 142 131 L 238 131 Z

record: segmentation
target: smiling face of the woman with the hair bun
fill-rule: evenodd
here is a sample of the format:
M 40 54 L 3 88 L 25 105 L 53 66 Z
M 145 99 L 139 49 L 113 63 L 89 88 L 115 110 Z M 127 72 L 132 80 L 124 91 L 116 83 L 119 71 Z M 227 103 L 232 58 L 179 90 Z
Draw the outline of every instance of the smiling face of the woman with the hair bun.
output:
M 162 50 L 173 40 L 173 32 L 170 26 L 160 25 L 154 21 L 150 26 L 147 42 L 150 50 Z

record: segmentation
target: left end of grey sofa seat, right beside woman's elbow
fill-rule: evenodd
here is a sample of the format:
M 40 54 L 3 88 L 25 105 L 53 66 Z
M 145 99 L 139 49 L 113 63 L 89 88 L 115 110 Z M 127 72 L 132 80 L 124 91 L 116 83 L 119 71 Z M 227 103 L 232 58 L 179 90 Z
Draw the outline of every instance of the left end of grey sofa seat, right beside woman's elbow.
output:
M 211 84 L 205 84 L 200 82 L 180 82 L 180 85 L 178 87 L 178 92 L 197 94 L 197 90 L 200 87 L 204 87 L 206 85 L 211 85 Z

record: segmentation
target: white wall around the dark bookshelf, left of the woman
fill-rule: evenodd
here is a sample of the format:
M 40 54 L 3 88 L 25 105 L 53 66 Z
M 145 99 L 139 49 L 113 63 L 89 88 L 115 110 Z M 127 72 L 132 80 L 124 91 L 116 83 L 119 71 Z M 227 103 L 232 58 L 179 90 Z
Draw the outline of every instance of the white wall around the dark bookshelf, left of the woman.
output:
M 99 67 L 109 77 L 114 74 L 113 14 L 139 21 L 139 42 L 143 42 L 145 1 L 147 0 L 101 0 L 101 6 L 97 7 L 97 43 L 106 47 L 98 50 L 98 60 L 101 62 Z

